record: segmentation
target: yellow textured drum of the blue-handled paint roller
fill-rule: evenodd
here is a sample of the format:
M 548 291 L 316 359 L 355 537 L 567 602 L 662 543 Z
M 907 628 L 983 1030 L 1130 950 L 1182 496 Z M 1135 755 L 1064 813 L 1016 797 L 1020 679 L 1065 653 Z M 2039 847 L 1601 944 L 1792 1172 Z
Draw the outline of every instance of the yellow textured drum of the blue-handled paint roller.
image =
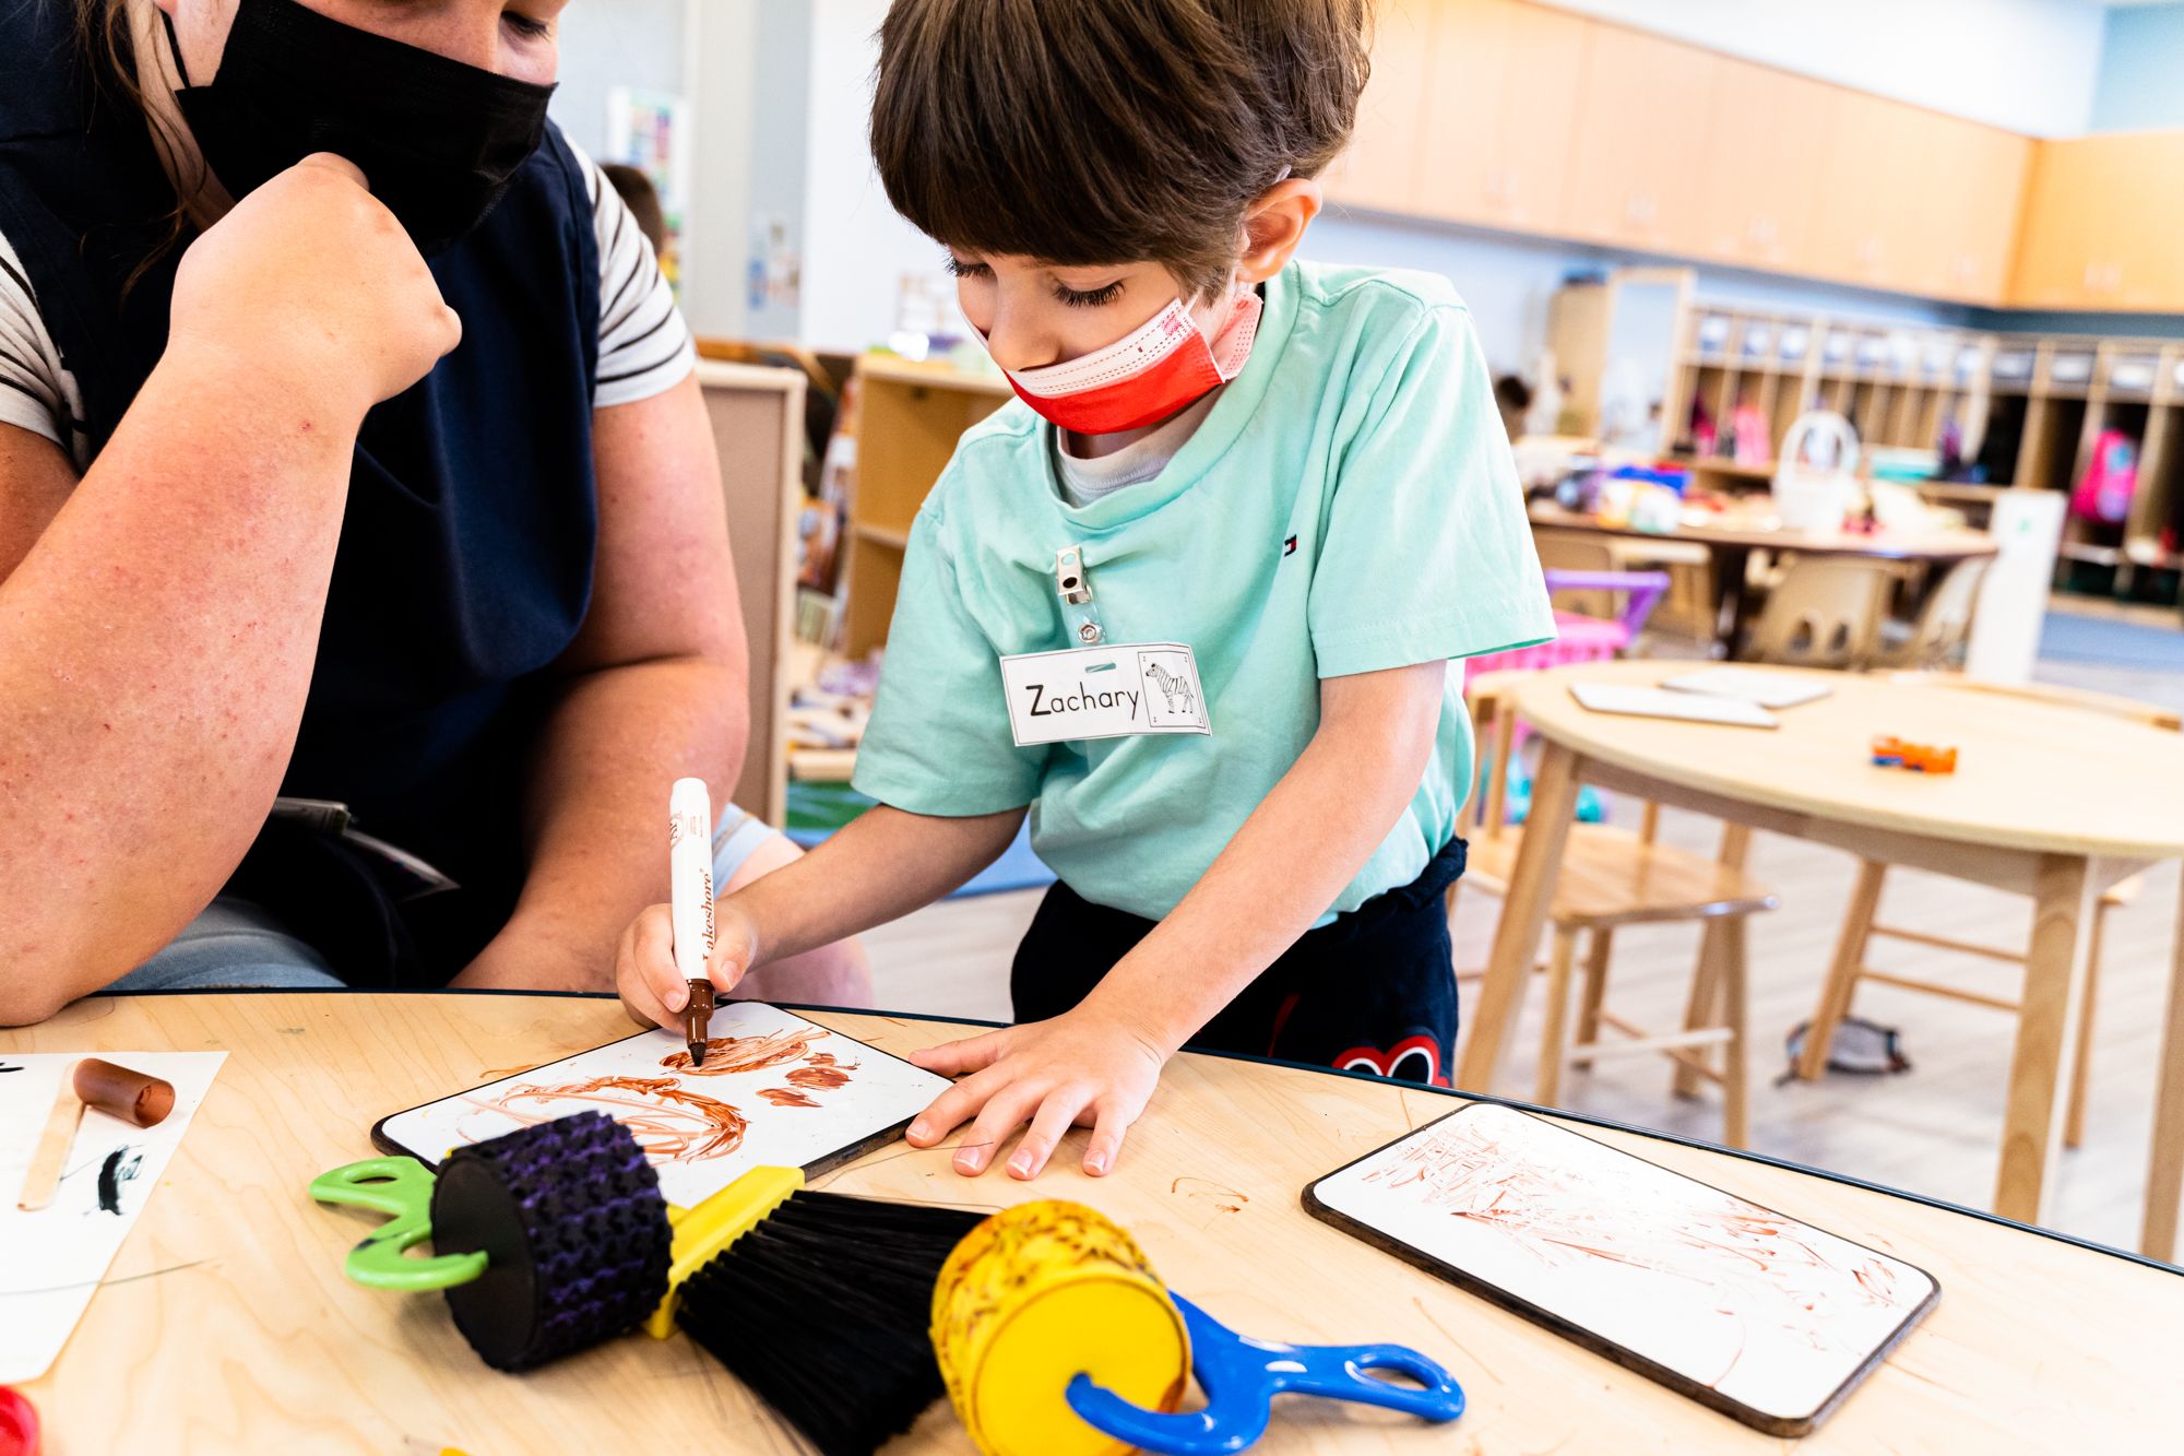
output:
M 1144 1250 L 1061 1200 L 996 1213 L 957 1244 L 933 1288 L 933 1353 L 985 1456 L 1120 1456 L 1070 1410 L 1070 1377 L 1149 1410 L 1175 1410 L 1190 1379 L 1184 1316 Z

